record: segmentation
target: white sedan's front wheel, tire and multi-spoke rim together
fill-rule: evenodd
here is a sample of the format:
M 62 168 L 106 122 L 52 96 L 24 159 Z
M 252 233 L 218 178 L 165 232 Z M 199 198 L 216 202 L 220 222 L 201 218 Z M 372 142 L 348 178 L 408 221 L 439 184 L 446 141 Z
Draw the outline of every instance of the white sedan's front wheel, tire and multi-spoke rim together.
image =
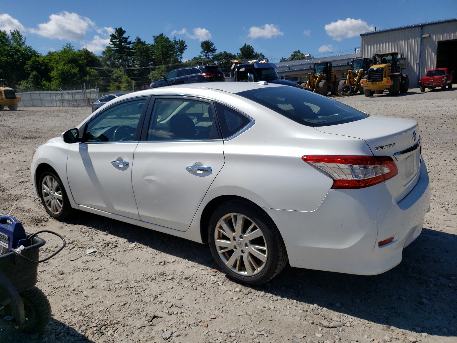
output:
M 37 188 L 44 209 L 51 217 L 64 220 L 74 213 L 64 185 L 54 171 L 44 171 Z

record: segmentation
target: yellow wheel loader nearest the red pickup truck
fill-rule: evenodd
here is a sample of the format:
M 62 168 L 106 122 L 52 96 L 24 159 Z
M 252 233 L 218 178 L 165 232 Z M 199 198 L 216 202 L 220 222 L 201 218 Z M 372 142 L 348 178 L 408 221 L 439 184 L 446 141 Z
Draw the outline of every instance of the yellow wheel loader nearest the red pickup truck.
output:
M 403 56 L 400 55 L 400 60 Z M 368 69 L 367 77 L 360 81 L 365 96 L 383 94 L 388 90 L 390 95 L 406 93 L 409 87 L 409 77 L 402 74 L 398 53 L 383 53 L 373 55 L 373 65 Z

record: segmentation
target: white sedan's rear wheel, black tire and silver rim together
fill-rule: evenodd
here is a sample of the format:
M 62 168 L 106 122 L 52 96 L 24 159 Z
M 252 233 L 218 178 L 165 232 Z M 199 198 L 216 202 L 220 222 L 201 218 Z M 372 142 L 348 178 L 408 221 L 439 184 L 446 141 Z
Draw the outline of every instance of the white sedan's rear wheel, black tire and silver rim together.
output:
M 288 261 L 273 220 L 246 200 L 230 200 L 214 211 L 208 225 L 208 243 L 221 270 L 243 284 L 268 282 Z

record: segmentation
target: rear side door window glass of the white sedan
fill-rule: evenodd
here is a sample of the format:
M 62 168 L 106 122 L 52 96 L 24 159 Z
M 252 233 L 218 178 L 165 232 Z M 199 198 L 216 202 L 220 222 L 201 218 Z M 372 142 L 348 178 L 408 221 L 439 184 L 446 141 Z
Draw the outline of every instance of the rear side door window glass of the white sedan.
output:
M 210 102 L 184 98 L 155 99 L 147 140 L 218 138 Z

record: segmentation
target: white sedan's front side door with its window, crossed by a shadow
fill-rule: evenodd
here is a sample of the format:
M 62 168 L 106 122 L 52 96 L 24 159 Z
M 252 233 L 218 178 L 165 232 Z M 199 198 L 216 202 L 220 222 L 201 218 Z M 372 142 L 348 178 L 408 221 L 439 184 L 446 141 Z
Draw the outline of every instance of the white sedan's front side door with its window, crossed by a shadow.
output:
M 82 142 L 70 145 L 67 176 L 77 204 L 139 219 L 132 162 L 148 102 L 114 104 L 85 125 Z

